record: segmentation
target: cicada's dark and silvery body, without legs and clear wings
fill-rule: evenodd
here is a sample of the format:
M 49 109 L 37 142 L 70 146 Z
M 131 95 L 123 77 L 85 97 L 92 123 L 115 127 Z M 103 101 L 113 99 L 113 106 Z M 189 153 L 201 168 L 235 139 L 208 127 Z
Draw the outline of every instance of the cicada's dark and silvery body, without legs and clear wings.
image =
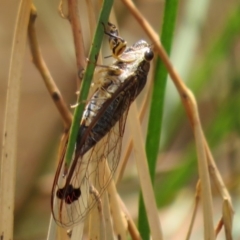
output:
M 145 86 L 150 58 L 145 56 L 146 52 L 149 54 L 148 45 L 143 44 L 142 47 L 138 53 L 132 54 L 132 57 L 138 58 L 137 61 L 116 61 L 109 68 L 104 75 L 104 84 L 87 104 L 77 140 L 81 155 L 109 132 Z M 127 54 L 131 55 L 131 52 Z

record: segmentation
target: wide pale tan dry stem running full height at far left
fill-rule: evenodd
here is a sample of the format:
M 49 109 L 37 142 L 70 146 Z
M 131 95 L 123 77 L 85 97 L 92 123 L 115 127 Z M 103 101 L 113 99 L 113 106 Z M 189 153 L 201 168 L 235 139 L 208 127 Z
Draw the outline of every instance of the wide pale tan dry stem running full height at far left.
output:
M 0 239 L 13 239 L 20 79 L 27 42 L 30 8 L 30 0 L 19 1 L 10 59 L 0 162 Z

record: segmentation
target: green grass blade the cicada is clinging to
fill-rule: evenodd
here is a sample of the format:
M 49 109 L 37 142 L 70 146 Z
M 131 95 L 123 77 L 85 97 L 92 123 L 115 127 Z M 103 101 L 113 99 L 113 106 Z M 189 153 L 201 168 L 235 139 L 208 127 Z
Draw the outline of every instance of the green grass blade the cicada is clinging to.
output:
M 66 151 L 66 165 L 69 166 L 72 160 L 72 155 L 75 147 L 75 142 L 77 138 L 77 133 L 79 129 L 80 119 L 82 118 L 82 114 L 84 111 L 85 104 L 84 102 L 87 99 L 88 91 L 91 86 L 91 80 L 93 78 L 95 62 L 98 58 L 98 53 L 101 47 L 102 39 L 103 39 L 103 25 L 102 23 L 107 23 L 108 17 L 113 5 L 113 0 L 105 0 L 102 4 L 102 9 L 100 12 L 99 20 L 97 23 L 96 32 L 94 35 L 93 43 L 91 45 L 90 53 L 89 53 L 89 61 L 86 67 L 86 71 L 82 81 L 81 92 L 78 98 L 78 106 L 74 111 L 73 122 L 70 129 L 70 136 Z

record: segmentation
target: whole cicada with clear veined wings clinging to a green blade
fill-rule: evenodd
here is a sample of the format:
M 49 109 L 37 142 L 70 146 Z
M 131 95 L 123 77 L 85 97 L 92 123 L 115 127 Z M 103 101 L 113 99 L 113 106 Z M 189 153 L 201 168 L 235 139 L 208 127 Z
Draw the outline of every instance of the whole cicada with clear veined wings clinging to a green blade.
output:
M 55 175 L 51 206 L 56 223 L 72 227 L 85 219 L 118 166 L 122 137 L 131 103 L 145 86 L 153 59 L 144 40 L 127 47 L 117 28 L 108 23 L 109 45 L 115 61 L 103 71 L 103 81 L 85 106 L 71 165 L 64 170 L 64 154 Z M 102 163 L 107 163 L 102 164 Z M 106 166 L 110 174 L 105 174 Z

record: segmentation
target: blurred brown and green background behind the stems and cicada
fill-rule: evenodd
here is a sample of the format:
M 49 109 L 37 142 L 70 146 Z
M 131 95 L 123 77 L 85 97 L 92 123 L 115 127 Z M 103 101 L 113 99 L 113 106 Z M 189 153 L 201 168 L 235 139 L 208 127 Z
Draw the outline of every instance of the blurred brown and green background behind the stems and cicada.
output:
M 85 4 L 80 16 L 88 50 L 90 39 Z M 172 61 L 196 94 L 204 132 L 217 165 L 233 198 L 234 239 L 240 239 L 240 4 L 237 0 L 179 2 Z M 57 12 L 59 1 L 34 1 L 38 10 L 36 28 L 45 61 L 66 102 L 76 101 L 76 64 L 70 25 Z M 151 25 L 159 30 L 164 1 L 135 1 Z M 0 140 L 11 43 L 18 1 L 0 3 Z M 115 11 L 120 33 L 129 44 L 146 35 L 120 1 Z M 201 18 L 196 20 L 196 16 Z M 105 39 L 105 42 L 107 39 Z M 87 53 L 86 50 L 86 53 Z M 103 56 L 109 55 L 108 47 Z M 111 59 L 106 60 L 107 64 Z M 150 78 L 149 78 L 150 80 Z M 146 93 L 142 93 L 146 94 Z M 141 96 L 140 96 L 141 101 Z M 146 132 L 147 114 L 143 121 Z M 26 51 L 22 77 L 18 135 L 15 239 L 45 239 L 50 217 L 50 191 L 56 169 L 56 154 L 63 130 L 61 119 Z M 126 131 L 127 134 L 127 131 Z M 166 239 L 183 239 L 193 206 L 198 179 L 193 136 L 179 96 L 168 81 L 163 133 L 156 172 L 156 198 Z M 119 191 L 132 216 L 137 218 L 138 179 L 134 159 L 129 160 Z M 213 186 L 216 222 L 221 200 Z M 194 237 L 202 239 L 201 208 Z M 219 239 L 224 239 L 221 234 Z

